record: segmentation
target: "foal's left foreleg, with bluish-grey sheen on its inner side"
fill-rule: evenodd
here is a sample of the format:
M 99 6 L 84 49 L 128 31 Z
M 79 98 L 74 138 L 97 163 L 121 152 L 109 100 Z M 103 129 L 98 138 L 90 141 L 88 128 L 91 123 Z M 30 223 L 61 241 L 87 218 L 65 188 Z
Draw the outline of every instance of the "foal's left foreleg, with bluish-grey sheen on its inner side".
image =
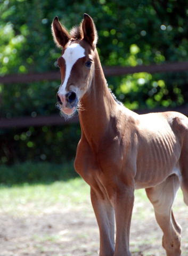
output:
M 100 256 L 112 256 L 115 249 L 113 207 L 108 198 L 103 199 L 92 188 L 91 201 L 100 230 Z

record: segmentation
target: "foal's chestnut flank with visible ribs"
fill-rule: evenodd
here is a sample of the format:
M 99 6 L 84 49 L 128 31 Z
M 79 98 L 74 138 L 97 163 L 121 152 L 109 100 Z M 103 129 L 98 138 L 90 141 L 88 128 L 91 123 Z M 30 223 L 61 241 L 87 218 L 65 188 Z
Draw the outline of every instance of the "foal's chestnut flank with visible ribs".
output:
M 154 187 L 177 168 L 181 147 L 174 134 L 153 134 L 138 147 L 135 188 Z

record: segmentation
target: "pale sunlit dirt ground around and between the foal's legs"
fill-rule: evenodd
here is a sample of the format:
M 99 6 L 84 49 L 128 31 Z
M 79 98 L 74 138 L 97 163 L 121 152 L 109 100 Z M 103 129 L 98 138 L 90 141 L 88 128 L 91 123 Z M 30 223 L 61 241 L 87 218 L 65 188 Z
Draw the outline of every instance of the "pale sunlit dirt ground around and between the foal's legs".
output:
M 183 227 L 182 256 L 187 256 L 188 209 L 185 212 L 183 203 L 176 201 L 175 217 Z M 21 215 L 1 212 L 0 256 L 98 255 L 99 231 L 89 200 L 66 209 L 55 204 L 39 214 L 31 214 L 30 205 L 22 207 Z M 150 203 L 136 199 L 130 234 L 132 255 L 165 256 L 161 237 Z

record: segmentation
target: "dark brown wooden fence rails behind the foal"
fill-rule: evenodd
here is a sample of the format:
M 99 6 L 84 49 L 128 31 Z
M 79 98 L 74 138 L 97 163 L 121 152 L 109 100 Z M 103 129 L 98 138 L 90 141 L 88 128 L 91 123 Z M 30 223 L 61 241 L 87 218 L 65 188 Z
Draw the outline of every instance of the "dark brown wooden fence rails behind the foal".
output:
M 136 66 L 136 67 L 104 67 L 105 76 L 120 76 L 126 74 L 133 74 L 139 72 L 147 73 L 167 73 L 167 72 L 181 72 L 188 71 L 188 61 L 184 62 L 174 62 L 174 63 L 164 63 L 160 65 L 150 65 L 150 66 Z M 31 83 L 38 81 L 53 81 L 60 80 L 60 72 L 53 71 L 48 73 L 34 73 L 34 74 L 12 74 L 0 76 L 0 83 L 3 84 L 13 84 L 13 83 Z M 184 115 L 188 116 L 187 108 L 164 108 L 164 109 L 152 109 L 153 112 L 158 111 L 179 111 Z M 136 111 L 138 114 L 146 114 L 151 110 L 146 109 L 142 111 Z M 63 125 L 68 123 L 78 122 L 78 117 L 75 116 L 68 121 L 64 121 L 60 115 L 51 116 L 24 116 L 24 117 L 14 117 L 14 118 L 0 118 L 0 128 L 7 129 L 13 127 L 28 127 L 28 126 L 42 126 L 42 125 Z

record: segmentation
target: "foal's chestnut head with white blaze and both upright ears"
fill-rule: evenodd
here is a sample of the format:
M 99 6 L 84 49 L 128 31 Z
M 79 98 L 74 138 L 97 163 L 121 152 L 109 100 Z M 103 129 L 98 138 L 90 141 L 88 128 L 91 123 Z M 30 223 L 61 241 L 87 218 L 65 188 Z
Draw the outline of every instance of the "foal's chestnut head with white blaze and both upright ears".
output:
M 62 114 L 70 117 L 79 108 L 80 99 L 91 85 L 97 32 L 92 18 L 84 14 L 80 26 L 73 27 L 70 33 L 55 17 L 52 34 L 56 45 L 62 48 L 62 55 L 58 58 L 61 71 L 58 106 Z

